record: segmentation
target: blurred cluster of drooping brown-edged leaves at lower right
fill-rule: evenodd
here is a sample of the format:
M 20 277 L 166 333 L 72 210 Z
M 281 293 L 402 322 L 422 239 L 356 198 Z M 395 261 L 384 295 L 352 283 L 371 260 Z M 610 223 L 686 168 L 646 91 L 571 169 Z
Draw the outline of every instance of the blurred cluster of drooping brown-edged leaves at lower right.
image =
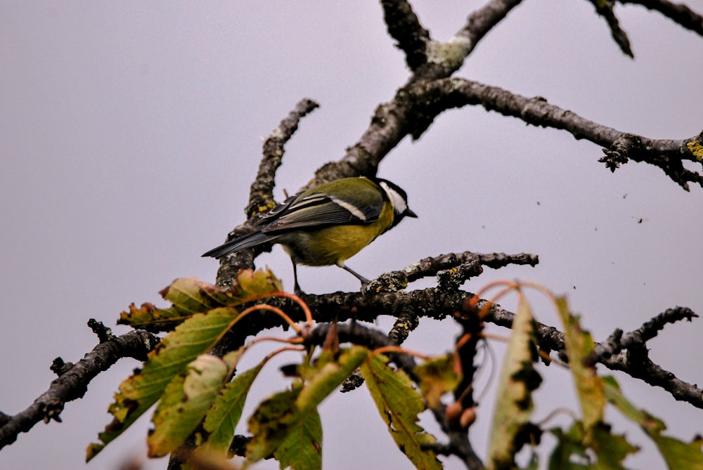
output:
M 626 457 L 638 452 L 639 448 L 607 424 L 604 415 L 609 403 L 645 431 L 669 469 L 703 468 L 703 439 L 695 438 L 684 443 L 664 436 L 666 426 L 662 420 L 639 410 L 625 398 L 614 377 L 598 376 L 591 334 L 581 329 L 579 318 L 569 313 L 564 298 L 553 300 L 565 327 L 569 373 L 576 387 L 581 419 L 573 419 L 569 429 L 546 429 L 529 421 L 533 412 L 532 392 L 540 379 L 534 368 L 538 358 L 535 321 L 531 308 L 520 294 L 517 317 L 501 370 L 487 468 L 517 468 L 515 457 L 523 445 L 532 448 L 531 459 L 524 468 L 538 468 L 536 445 L 542 434 L 548 432 L 557 439 L 548 459 L 550 470 L 625 469 Z

